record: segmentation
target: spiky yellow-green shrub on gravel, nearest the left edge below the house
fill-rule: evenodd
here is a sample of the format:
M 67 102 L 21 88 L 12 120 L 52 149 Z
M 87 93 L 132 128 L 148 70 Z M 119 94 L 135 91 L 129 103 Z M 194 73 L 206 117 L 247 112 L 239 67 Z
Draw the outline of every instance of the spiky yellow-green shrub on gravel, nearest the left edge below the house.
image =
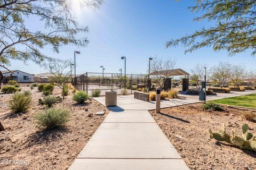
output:
M 26 92 L 17 92 L 8 101 L 8 107 L 15 113 L 26 112 L 32 104 L 32 97 Z

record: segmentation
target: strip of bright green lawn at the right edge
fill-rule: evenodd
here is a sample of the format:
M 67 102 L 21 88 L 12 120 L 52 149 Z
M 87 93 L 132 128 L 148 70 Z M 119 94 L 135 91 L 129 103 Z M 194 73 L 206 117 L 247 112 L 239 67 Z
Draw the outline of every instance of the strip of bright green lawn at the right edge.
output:
M 256 108 L 256 94 L 229 97 L 225 99 L 212 100 L 214 103 L 234 105 L 234 106 L 244 106 L 244 107 L 254 107 Z

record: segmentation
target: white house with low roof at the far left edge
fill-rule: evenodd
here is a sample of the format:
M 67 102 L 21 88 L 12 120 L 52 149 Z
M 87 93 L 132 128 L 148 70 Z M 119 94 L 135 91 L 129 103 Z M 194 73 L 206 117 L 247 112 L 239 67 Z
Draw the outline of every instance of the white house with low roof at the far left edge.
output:
M 1 71 L 4 76 L 4 81 L 6 82 L 8 80 L 14 80 L 19 83 L 26 83 L 26 82 L 34 82 L 34 75 L 29 74 L 20 70 L 11 70 L 13 73 L 10 71 Z

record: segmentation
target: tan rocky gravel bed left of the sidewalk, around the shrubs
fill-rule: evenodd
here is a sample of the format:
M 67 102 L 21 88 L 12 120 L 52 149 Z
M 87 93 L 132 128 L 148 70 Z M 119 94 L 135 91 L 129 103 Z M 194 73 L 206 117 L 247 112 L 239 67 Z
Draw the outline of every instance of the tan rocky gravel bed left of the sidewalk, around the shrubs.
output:
M 37 88 L 31 93 L 33 107 L 16 116 L 7 107 L 12 94 L 0 94 L 0 119 L 5 128 L 0 132 L 0 169 L 67 169 L 109 111 L 93 99 L 76 104 L 70 92 L 55 105 L 69 109 L 71 118 L 66 127 L 42 131 L 36 127 L 34 116 L 45 107 L 38 104 L 43 95 Z M 60 96 L 60 89 L 55 87 L 53 95 Z M 98 111 L 106 114 L 95 115 Z

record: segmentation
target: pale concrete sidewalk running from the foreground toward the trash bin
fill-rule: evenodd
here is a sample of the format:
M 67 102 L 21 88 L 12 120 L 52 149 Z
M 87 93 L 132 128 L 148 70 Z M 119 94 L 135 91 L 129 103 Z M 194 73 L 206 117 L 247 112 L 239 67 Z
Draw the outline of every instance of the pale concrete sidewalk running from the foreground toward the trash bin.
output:
M 69 169 L 189 169 L 148 111 L 110 111 Z

